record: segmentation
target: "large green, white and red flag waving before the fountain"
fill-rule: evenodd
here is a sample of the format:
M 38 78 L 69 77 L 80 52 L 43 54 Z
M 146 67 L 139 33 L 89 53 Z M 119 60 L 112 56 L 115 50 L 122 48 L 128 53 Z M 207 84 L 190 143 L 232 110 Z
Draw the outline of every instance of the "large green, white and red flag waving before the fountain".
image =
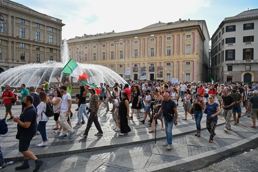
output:
M 78 80 L 87 79 L 89 76 L 83 71 L 72 58 L 68 61 L 68 63 L 63 67 L 62 72 Z

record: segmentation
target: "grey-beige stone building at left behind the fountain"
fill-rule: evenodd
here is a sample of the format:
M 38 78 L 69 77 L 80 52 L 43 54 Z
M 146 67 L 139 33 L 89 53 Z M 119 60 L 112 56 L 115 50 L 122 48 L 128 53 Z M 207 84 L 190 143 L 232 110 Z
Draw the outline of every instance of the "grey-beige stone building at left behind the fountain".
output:
M 27 63 L 61 61 L 60 19 L 12 1 L 0 2 L 0 73 Z

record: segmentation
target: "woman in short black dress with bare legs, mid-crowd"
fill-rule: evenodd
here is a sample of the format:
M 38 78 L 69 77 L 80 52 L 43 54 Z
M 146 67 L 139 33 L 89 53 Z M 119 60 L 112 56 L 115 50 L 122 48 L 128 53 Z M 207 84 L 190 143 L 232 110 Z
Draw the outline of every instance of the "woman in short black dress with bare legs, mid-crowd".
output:
M 137 119 L 140 118 L 140 109 L 142 109 L 142 105 L 140 104 L 140 89 L 138 85 L 133 87 L 133 94 L 131 97 L 131 116 L 130 119 L 133 119 L 134 109 L 137 109 Z

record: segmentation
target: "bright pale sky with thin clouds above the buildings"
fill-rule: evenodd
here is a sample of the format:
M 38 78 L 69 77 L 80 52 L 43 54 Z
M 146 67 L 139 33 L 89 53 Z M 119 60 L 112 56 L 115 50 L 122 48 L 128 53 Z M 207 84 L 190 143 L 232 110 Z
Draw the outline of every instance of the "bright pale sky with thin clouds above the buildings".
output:
M 37 12 L 61 19 L 62 39 L 83 34 L 139 30 L 153 23 L 179 19 L 205 20 L 210 36 L 225 17 L 248 8 L 257 0 L 13 0 Z

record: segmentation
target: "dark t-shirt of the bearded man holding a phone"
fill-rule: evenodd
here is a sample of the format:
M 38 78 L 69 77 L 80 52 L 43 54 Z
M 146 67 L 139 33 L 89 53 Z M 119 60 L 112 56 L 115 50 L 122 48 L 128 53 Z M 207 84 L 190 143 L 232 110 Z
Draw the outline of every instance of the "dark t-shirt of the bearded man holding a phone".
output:
M 34 106 L 25 109 L 20 116 L 21 122 L 31 122 L 30 127 L 25 129 L 17 124 L 18 133 L 20 134 L 36 134 L 36 108 Z

